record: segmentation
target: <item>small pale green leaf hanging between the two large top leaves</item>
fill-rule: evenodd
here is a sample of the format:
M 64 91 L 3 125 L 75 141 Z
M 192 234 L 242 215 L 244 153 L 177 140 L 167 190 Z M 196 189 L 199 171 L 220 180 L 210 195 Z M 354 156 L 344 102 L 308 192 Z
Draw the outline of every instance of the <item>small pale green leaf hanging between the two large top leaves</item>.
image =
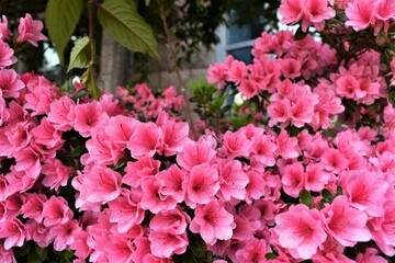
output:
M 74 68 L 88 68 L 91 62 L 91 58 L 94 56 L 94 45 L 91 45 L 91 39 L 84 36 L 75 42 L 75 46 L 70 54 L 70 64 L 67 68 L 67 72 Z M 93 50 L 92 50 L 93 49 Z

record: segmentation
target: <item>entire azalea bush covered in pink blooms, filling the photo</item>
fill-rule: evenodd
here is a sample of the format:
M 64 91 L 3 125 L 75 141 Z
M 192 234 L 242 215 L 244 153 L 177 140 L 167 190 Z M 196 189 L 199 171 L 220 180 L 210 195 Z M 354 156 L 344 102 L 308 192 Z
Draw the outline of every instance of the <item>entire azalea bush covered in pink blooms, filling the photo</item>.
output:
M 45 36 L 2 16 L 0 262 L 394 261 L 392 4 L 282 1 L 301 30 L 208 68 L 198 138 L 172 87 L 16 73 Z

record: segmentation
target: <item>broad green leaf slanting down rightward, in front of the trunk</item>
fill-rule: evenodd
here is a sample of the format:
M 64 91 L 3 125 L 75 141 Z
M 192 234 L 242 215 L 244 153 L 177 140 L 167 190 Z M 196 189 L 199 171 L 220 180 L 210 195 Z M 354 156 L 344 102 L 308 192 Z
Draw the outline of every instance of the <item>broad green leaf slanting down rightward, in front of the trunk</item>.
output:
M 106 0 L 98 9 L 98 19 L 104 31 L 132 52 L 147 53 L 160 60 L 158 43 L 151 27 L 127 0 Z

